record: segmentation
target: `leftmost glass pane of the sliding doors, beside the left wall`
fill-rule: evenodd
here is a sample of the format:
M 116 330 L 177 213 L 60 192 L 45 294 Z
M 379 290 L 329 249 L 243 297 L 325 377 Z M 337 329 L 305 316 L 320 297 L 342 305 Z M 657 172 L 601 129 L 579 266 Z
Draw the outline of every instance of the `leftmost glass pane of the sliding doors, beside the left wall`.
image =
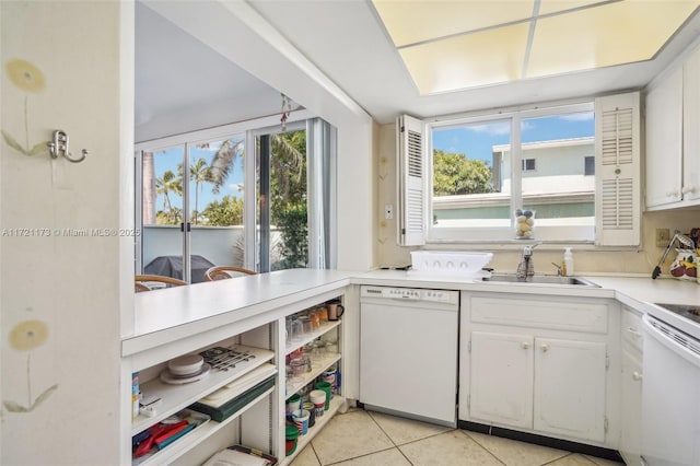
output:
M 142 265 L 144 273 L 183 278 L 184 147 L 143 152 Z M 179 260 L 179 263 L 178 263 Z

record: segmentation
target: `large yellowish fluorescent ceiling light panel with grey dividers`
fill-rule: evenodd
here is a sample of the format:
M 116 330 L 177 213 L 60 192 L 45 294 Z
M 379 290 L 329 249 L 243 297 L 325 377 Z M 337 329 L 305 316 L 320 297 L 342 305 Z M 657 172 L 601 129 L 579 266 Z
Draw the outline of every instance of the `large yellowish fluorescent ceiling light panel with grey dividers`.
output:
M 372 0 L 421 94 L 650 60 L 700 0 Z

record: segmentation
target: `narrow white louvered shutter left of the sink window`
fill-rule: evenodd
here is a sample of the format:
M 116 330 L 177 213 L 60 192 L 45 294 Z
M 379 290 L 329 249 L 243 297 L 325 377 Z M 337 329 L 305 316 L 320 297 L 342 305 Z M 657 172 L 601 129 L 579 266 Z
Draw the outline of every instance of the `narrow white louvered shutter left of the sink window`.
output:
M 397 135 L 398 243 L 401 246 L 420 246 L 425 244 L 424 125 L 408 115 L 400 116 Z

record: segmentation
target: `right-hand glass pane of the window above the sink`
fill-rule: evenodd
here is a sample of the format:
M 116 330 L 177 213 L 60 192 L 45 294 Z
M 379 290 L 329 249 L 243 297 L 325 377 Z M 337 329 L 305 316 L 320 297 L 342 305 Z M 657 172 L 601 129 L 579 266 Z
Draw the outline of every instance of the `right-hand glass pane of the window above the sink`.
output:
M 538 226 L 594 225 L 594 114 L 579 112 L 522 121 L 523 209 Z

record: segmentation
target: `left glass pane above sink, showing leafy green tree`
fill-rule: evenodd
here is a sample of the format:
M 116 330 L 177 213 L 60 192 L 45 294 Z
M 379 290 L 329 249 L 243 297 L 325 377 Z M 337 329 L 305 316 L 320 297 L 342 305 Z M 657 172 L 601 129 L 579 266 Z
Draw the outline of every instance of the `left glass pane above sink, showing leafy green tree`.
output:
M 510 226 L 511 121 L 435 128 L 433 226 Z

